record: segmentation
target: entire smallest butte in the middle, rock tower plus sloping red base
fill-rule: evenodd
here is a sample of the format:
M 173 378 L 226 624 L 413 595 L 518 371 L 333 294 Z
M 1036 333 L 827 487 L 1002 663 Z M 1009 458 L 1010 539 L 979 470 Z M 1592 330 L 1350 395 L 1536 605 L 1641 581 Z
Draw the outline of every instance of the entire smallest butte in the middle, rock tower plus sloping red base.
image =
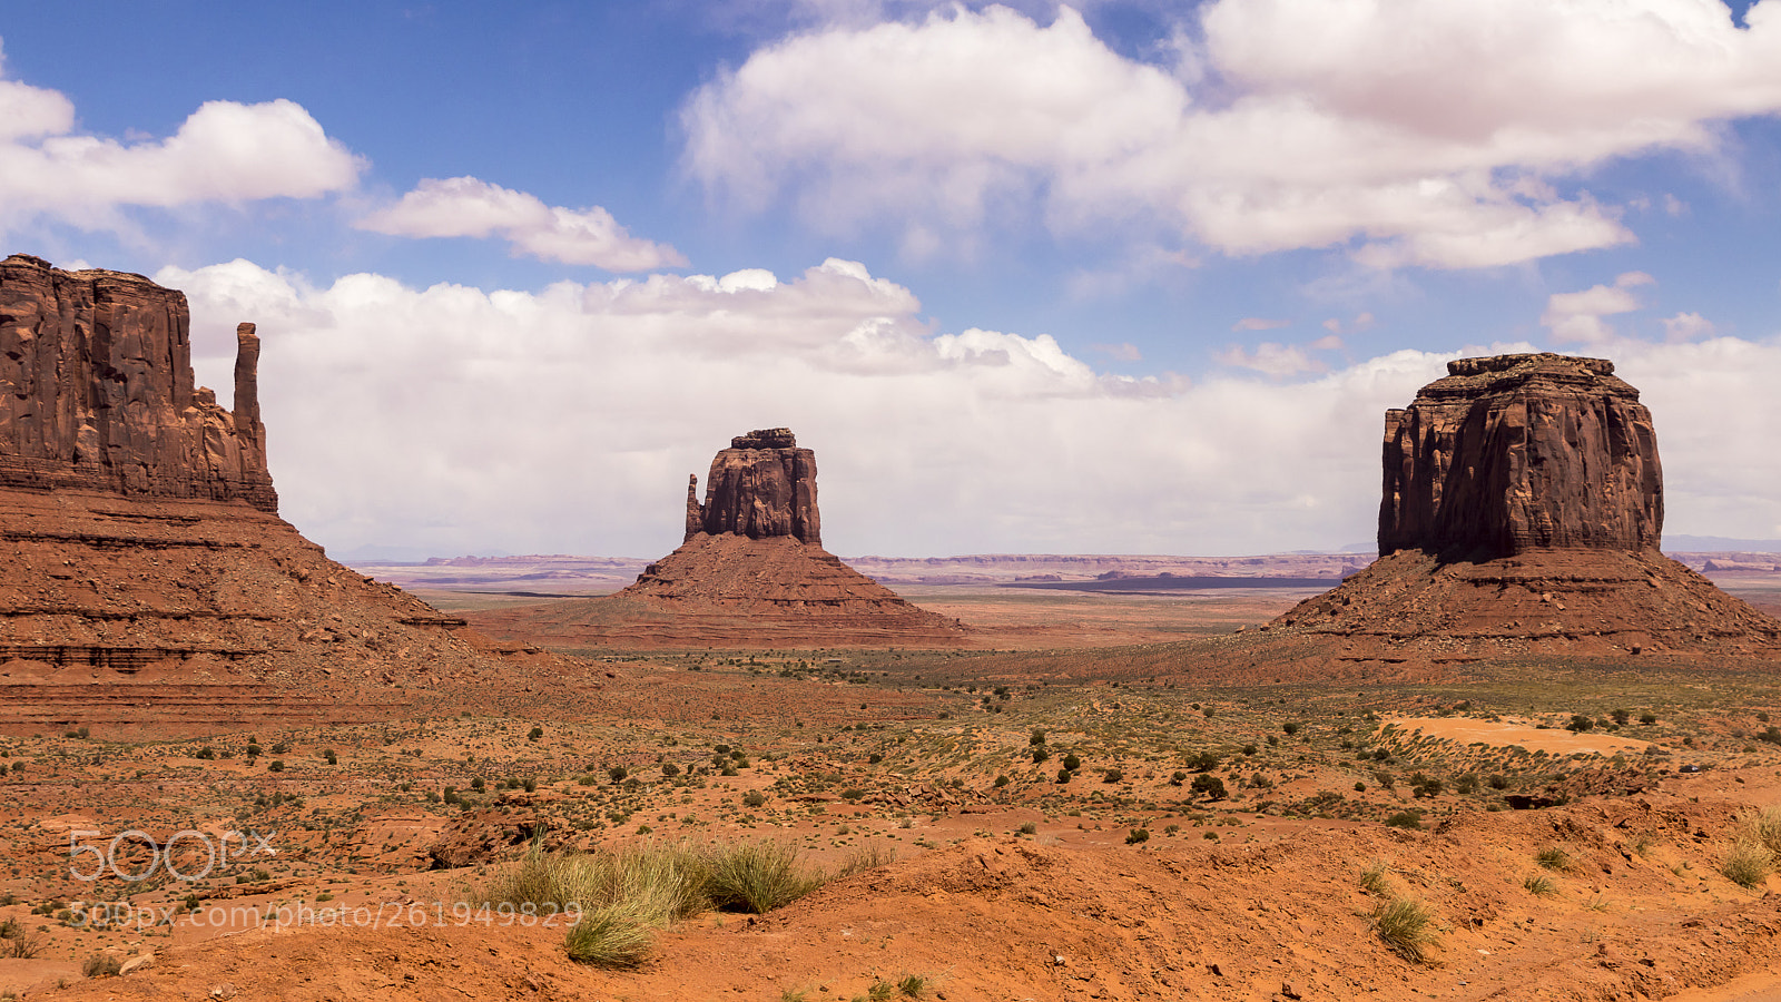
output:
M 718 451 L 686 540 L 613 595 L 470 613 L 495 637 L 616 647 L 949 647 L 951 619 L 901 599 L 823 549 L 816 453 L 789 428 Z

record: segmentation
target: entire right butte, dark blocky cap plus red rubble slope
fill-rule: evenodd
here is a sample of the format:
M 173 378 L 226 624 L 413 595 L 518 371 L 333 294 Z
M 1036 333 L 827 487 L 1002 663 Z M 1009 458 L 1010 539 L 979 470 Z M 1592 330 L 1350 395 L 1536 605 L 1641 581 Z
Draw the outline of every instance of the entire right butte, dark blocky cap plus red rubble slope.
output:
M 1651 412 L 1601 358 L 1448 362 L 1386 412 L 1380 558 L 1265 631 L 1336 663 L 1781 656 L 1781 622 L 1658 553 Z

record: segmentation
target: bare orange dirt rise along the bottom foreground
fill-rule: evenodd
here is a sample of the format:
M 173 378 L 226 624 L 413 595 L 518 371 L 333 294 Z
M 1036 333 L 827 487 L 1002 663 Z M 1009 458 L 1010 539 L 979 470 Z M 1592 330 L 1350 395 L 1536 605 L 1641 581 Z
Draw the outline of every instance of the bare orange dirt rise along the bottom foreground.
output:
M 435 922 L 419 897 L 431 891 L 390 888 L 358 925 L 249 929 L 48 995 L 682 1002 L 855 998 L 915 977 L 930 998 L 1658 998 L 1781 959 L 1774 895 L 1717 877 L 1679 886 L 1696 883 L 1678 877 L 1685 863 L 1712 868 L 1735 824 L 1726 804 L 1656 793 L 1473 813 L 1432 833 L 1288 822 L 1279 838 L 1140 849 L 967 838 L 766 916 L 687 922 L 634 972 L 570 963 L 559 927 L 449 909 Z M 1535 856 L 1555 845 L 1565 870 L 1530 893 Z M 1370 863 L 1377 893 L 1361 881 Z M 1380 941 L 1371 913 L 1386 897 L 1432 916 L 1430 966 Z M 420 918 L 372 927 L 372 915 Z

